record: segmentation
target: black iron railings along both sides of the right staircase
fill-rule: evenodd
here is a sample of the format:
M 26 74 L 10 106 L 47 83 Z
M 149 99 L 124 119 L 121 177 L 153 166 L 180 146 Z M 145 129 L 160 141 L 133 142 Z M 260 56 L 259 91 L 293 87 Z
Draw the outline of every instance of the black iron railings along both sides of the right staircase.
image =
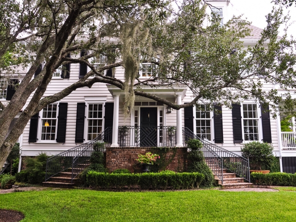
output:
M 183 145 L 186 146 L 188 139 L 199 139 L 203 146 L 202 151 L 205 161 L 213 171 L 213 173 L 221 180 L 223 184 L 223 169 L 234 172 L 237 176 L 244 178 L 250 182 L 249 162 L 248 159 L 237 155 L 234 152 L 217 146 L 210 141 L 199 138 L 187 127 L 183 127 Z

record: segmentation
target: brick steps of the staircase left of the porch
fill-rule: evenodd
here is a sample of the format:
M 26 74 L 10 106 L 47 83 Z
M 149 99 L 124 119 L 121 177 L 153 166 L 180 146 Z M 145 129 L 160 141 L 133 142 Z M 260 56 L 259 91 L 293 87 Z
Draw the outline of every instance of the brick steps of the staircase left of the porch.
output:
M 78 164 L 76 168 L 73 168 L 73 175 L 75 176 L 73 180 L 72 168 L 67 168 L 66 171 L 60 172 L 57 175 L 50 177 L 49 181 L 42 182 L 43 186 L 72 188 L 77 182 L 77 175 L 88 165 L 88 163 Z

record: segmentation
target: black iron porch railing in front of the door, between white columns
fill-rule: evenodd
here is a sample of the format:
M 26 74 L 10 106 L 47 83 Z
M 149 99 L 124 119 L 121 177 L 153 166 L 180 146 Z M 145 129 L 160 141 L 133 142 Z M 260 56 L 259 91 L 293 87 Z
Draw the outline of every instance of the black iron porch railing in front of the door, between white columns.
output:
M 119 146 L 174 146 L 175 126 L 118 126 Z

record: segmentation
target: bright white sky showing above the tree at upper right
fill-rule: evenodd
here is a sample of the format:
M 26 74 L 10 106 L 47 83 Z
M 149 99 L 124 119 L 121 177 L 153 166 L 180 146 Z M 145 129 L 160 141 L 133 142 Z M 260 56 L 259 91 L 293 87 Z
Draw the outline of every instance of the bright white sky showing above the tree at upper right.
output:
M 266 26 L 265 15 L 272 10 L 272 6 L 274 3 L 271 3 L 271 0 L 230 0 L 228 9 L 231 9 L 234 15 L 244 14 L 243 18 L 246 17 L 253 25 L 264 28 Z M 291 21 L 296 21 L 296 7 L 292 5 L 287 9 L 284 8 L 284 14 L 288 11 L 290 11 Z M 283 34 L 283 28 L 284 26 L 280 28 L 280 36 Z M 287 34 L 296 37 L 296 22 L 288 28 Z

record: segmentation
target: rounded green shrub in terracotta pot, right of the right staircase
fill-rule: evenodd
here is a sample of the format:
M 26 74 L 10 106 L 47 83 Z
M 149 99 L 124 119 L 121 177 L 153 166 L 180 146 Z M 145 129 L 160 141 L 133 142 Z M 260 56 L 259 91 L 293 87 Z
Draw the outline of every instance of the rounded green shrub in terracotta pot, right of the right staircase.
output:
M 267 142 L 252 141 L 241 148 L 242 157 L 249 159 L 250 172 L 268 173 L 275 156 L 272 153 L 273 146 Z

